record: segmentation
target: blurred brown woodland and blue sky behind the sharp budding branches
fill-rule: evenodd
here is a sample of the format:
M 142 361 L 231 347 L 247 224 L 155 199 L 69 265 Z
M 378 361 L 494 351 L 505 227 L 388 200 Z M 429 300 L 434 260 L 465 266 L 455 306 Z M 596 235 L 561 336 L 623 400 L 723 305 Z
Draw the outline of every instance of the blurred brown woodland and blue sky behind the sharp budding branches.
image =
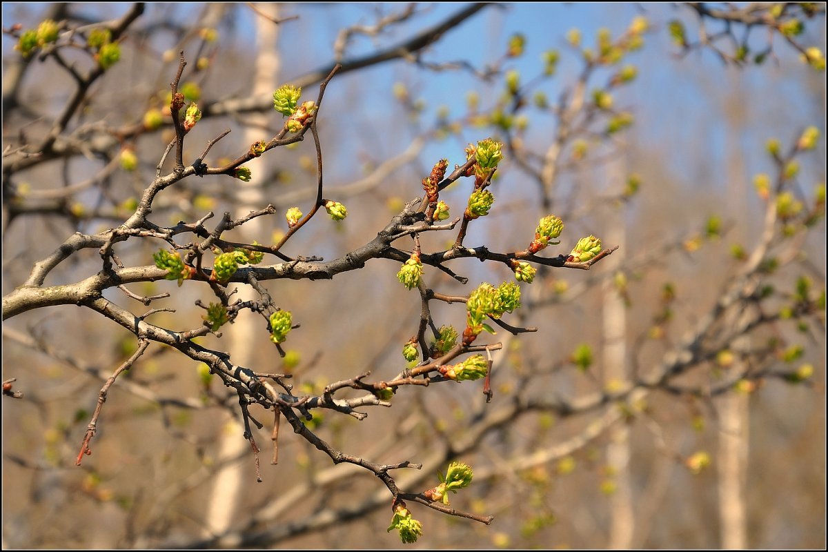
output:
M 69 146 L 36 159 L 7 151 L 48 136 L 74 101 L 67 68 L 85 74 L 96 60 L 71 46 L 60 48 L 62 61 L 24 59 L 12 25 L 49 18 L 85 36 L 136 8 L 4 3 L 3 294 L 71 233 L 132 213 L 173 136 L 163 108 L 180 50 L 186 94 L 205 113 L 185 163 L 232 130 L 210 151 L 211 167 L 281 129 L 273 89 L 302 84 L 302 98 L 315 98 L 341 61 L 318 125 L 325 198 L 346 204 L 348 218 L 313 218 L 282 252 L 330 260 L 362 246 L 422 194 L 436 161 L 451 170 L 485 137 L 504 142 L 505 159 L 493 208 L 469 225 L 467 247 L 522 250 L 551 213 L 566 228 L 543 256 L 566 255 L 590 234 L 620 246 L 590 271 L 542 268 L 521 285 L 523 307 L 504 319 L 538 331 L 486 336 L 503 343 L 491 403 L 480 382 L 445 382 L 402 387 L 390 409 L 366 409 L 362 421 L 315 412 L 311 429 L 346 454 L 423 463 L 395 474 L 406 492 L 435 486 L 453 459 L 474 468 L 451 505 L 491 514 L 492 524 L 410 505 L 424 532 L 411 546 L 824 548 L 826 85 L 796 46 L 825 51 L 824 6 L 813 17 L 786 7 L 780 21 L 803 23 L 788 35 L 746 33 L 686 5 L 473 7 L 149 3 L 118 39 L 118 63 L 62 129 Z M 700 29 L 709 45 L 698 44 Z M 431 40 L 414 48 L 417 36 Z M 403 44 L 412 51 L 401 55 Z M 147 122 L 155 113 L 159 126 Z M 808 127 L 819 132 L 811 147 L 801 138 Z M 158 196 L 152 221 L 238 218 L 270 203 L 277 216 L 232 237 L 277 242 L 284 211 L 307 212 L 315 197 L 306 138 L 249 162 L 248 183 L 182 180 Z M 163 174 L 171 167 L 168 159 Z M 440 194 L 452 217 L 470 190 L 461 179 Z M 455 236 L 426 233 L 423 251 Z M 118 256 L 149 265 L 158 247 L 133 239 Z M 503 264 L 449 267 L 469 285 L 429 266 L 426 285 L 467 295 L 481 281 L 513 281 Z M 84 251 L 46 284 L 99 269 L 97 250 Z M 200 343 L 258 372 L 293 374 L 300 396 L 368 370 L 372 381 L 390 379 L 407 366 L 400 352 L 421 311 L 398 270 L 375 259 L 330 281 L 265 282 L 301 324 L 285 358 L 253 315 Z M 185 284 L 132 291 L 170 292 L 152 307 L 176 311 L 153 322 L 183 330 L 200 324 L 194 301 L 209 299 L 203 284 Z M 150 309 L 118 290 L 107 297 Z M 463 305 L 431 301 L 431 314 L 438 327 L 465 325 Z M 76 467 L 101 386 L 135 348 L 132 334 L 76 307 L 4 321 L 3 379 L 24 392 L 2 401 L 4 547 L 400 546 L 385 530 L 391 497 L 370 473 L 334 466 L 286 430 L 270 465 L 272 415 L 261 409 L 252 409 L 264 423 L 256 482 L 237 396 L 157 345 L 109 391 L 94 454 Z

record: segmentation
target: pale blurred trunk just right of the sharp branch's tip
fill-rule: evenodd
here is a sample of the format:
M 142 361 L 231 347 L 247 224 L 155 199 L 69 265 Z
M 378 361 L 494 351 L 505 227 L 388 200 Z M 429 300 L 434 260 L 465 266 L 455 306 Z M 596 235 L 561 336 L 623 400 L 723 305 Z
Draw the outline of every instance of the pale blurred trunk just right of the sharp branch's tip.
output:
M 623 182 L 626 175 L 625 155 L 619 161 L 610 164 L 607 179 L 616 185 Z M 607 215 L 604 235 L 612 236 L 621 250 L 625 250 L 625 223 L 623 206 L 613 209 Z M 609 257 L 604 270 L 616 271 L 622 257 Z M 627 306 L 619 291 L 615 279 L 604 284 L 604 385 L 615 386 L 626 382 L 627 375 Z M 613 468 L 615 492 L 609 498 L 610 525 L 608 548 L 629 549 L 633 545 L 635 516 L 633 511 L 633 491 L 629 473 L 629 426 L 626 423 L 616 425 L 609 431 L 607 446 L 607 463 Z

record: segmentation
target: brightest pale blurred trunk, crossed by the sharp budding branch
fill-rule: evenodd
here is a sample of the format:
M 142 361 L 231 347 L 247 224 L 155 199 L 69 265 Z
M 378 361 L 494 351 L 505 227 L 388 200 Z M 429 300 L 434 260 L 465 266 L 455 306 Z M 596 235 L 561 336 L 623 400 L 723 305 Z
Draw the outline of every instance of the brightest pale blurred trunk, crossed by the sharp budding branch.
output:
M 278 19 L 278 4 L 257 4 L 256 8 L 267 14 L 267 16 Z M 277 50 L 279 26 L 268 21 L 266 17 L 258 15 L 254 17 L 254 21 L 257 46 L 256 55 L 251 56 L 254 65 L 250 94 L 257 97 L 266 97 L 278 87 L 278 75 L 281 65 Z M 267 127 L 268 124 L 266 114 L 250 113 L 248 114 L 248 120 L 249 124 L 244 132 L 243 143 L 252 144 L 270 138 L 265 136 L 264 131 L 262 131 L 262 128 Z M 257 159 L 248 163 L 248 166 L 253 166 L 253 179 L 249 182 L 243 182 L 242 180 L 236 182 L 235 185 L 239 187 L 240 201 L 238 212 L 233 214 L 234 216 L 241 216 L 253 209 L 261 209 L 268 203 L 263 193 L 261 180 L 261 176 L 267 172 L 262 166 L 264 162 L 262 159 Z M 257 164 L 258 169 L 255 168 Z M 260 178 L 257 179 L 256 175 L 259 175 Z M 247 242 L 269 235 L 267 228 L 264 228 L 262 224 L 263 220 L 263 217 L 254 218 L 245 223 L 244 239 Z M 257 300 L 258 297 L 249 286 L 239 286 L 238 295 L 234 295 L 233 299 Z M 238 316 L 232 325 L 224 327 L 225 338 L 229 341 L 228 348 L 233 351 L 233 360 L 238 362 L 240 366 L 253 366 L 261 349 L 269 345 L 261 339 L 262 324 L 264 324 L 264 321 L 261 318 L 245 311 Z M 243 439 L 243 433 L 244 428 L 240 420 L 237 417 L 229 416 L 227 423 L 219 433 L 219 458 L 217 458 L 219 463 L 233 458 L 248 458 L 245 455 L 249 455 L 250 447 L 247 440 Z M 262 458 L 267 458 L 267 449 L 261 443 L 259 446 L 262 448 Z M 213 479 L 214 486 L 209 498 L 205 523 L 209 533 L 221 534 L 229 528 L 233 521 L 231 512 L 238 511 L 236 504 L 239 491 L 243 488 L 243 478 L 253 478 L 252 469 L 251 463 L 236 460 L 228 463 L 216 473 L 216 477 Z

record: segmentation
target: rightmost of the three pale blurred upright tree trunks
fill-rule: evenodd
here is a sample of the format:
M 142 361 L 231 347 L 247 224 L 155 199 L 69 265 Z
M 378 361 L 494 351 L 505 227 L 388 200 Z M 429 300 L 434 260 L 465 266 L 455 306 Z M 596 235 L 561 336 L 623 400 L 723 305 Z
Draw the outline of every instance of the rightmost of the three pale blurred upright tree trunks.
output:
M 742 74 L 731 74 L 732 90 L 724 98 L 724 113 L 729 119 L 727 135 L 727 206 L 731 217 L 744 219 L 748 209 L 744 200 L 747 175 L 744 170 L 744 156 L 739 145 L 739 136 L 747 120 L 747 105 L 744 102 Z M 739 222 L 742 222 L 741 220 Z M 744 223 L 737 223 L 744 228 Z M 733 235 L 742 242 L 744 235 Z M 734 319 L 734 324 L 739 320 Z M 739 338 L 730 344 L 735 351 L 749 348 L 749 338 Z M 734 364 L 728 368 L 735 373 L 745 370 L 744 363 L 735 355 Z M 744 487 L 748 473 L 748 401 L 749 395 L 729 393 L 719 403 L 719 450 L 717 464 L 719 471 L 719 517 L 721 546 L 724 549 L 744 549 L 748 546 L 747 506 Z

